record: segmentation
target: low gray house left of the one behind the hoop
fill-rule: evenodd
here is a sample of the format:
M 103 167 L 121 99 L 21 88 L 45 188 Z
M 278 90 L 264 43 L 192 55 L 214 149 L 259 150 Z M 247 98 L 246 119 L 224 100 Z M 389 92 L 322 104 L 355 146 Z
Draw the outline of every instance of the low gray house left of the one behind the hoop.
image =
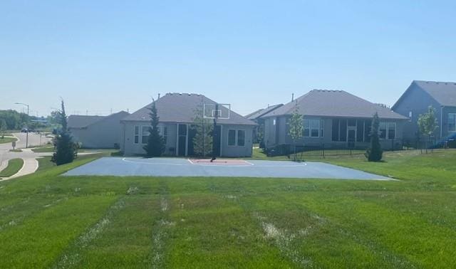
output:
M 113 149 L 120 147 L 120 120 L 128 115 L 125 111 L 109 116 L 70 115 L 68 130 L 73 140 L 83 148 Z

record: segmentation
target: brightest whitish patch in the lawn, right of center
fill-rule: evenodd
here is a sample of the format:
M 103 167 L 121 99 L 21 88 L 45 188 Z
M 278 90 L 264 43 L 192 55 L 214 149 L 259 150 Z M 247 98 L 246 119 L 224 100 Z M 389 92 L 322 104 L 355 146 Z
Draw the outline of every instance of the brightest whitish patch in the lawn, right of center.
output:
M 311 258 L 304 257 L 293 246 L 294 240 L 298 236 L 303 236 L 301 233 L 296 235 L 295 233 L 289 233 L 289 231 L 277 228 L 274 223 L 267 222 L 266 218 L 264 216 L 260 216 L 258 213 L 254 213 L 254 216 L 261 223 L 261 228 L 263 228 L 265 234 L 264 237 L 273 240 L 274 245 L 279 248 L 281 253 L 284 253 L 287 258 L 296 264 L 304 267 L 312 265 Z

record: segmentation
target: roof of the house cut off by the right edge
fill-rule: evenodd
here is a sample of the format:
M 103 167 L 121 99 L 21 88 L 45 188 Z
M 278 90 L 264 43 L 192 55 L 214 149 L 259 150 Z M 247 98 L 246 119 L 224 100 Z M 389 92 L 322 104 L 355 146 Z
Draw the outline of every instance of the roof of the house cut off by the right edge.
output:
M 413 89 L 413 85 L 418 86 L 425 93 L 430 95 L 440 105 L 447 107 L 456 107 L 456 83 L 453 82 L 439 82 L 439 81 L 425 81 L 413 80 L 410 87 L 405 90 L 405 93 L 399 98 L 398 102 L 393 105 L 393 108 L 399 104 L 405 97 L 408 91 Z

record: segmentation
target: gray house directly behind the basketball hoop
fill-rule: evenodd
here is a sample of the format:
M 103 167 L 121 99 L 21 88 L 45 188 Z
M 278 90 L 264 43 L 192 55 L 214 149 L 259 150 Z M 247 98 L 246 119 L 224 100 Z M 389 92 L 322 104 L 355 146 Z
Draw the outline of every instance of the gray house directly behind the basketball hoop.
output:
M 167 93 L 155 100 L 157 115 L 160 117 L 160 134 L 165 139 L 167 156 L 192 156 L 195 130 L 195 112 L 203 104 L 216 104 L 204 95 L 193 93 Z M 150 127 L 150 107 L 152 103 L 125 117 L 122 122 L 122 142 L 120 149 L 125 155 L 145 154 L 142 147 L 147 143 Z M 227 110 L 227 107 L 220 107 Z M 222 111 L 222 115 L 226 114 Z M 215 154 L 219 157 L 252 156 L 252 132 L 257 124 L 234 111 L 229 112 L 229 119 L 218 119 L 218 141 Z

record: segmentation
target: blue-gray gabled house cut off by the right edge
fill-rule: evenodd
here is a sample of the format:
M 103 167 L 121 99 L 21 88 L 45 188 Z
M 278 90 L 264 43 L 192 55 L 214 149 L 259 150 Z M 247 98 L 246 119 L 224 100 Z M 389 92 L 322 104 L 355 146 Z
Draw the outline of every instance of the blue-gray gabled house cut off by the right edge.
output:
M 435 109 L 438 128 L 436 142 L 454 139 L 456 136 L 456 83 L 413 80 L 405 93 L 393 105 L 393 110 L 408 118 L 404 125 L 404 137 L 415 142 L 418 139 L 418 117 Z

